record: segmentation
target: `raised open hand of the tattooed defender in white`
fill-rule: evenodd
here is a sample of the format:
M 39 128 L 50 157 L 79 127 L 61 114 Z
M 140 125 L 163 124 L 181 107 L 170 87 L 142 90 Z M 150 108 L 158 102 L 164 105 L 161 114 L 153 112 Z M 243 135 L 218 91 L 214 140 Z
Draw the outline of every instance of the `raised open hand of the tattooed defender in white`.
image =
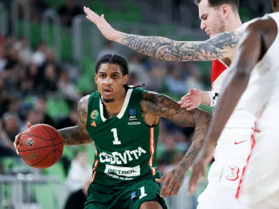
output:
M 97 15 L 90 8 L 84 6 L 84 13 L 86 14 L 86 18 L 96 24 L 100 32 L 107 38 L 108 40 L 114 40 L 117 31 L 112 28 L 110 24 L 105 20 L 104 15 Z

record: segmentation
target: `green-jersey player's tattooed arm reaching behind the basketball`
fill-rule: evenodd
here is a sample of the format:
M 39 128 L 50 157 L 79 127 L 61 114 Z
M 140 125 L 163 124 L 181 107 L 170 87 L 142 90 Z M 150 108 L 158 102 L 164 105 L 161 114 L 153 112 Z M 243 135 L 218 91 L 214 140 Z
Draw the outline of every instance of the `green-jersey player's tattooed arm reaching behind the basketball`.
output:
M 78 125 L 66 127 L 58 130 L 66 145 L 89 144 L 92 139 L 86 130 L 86 121 L 88 115 L 88 99 L 89 95 L 82 98 L 77 106 L 77 114 L 79 115 Z

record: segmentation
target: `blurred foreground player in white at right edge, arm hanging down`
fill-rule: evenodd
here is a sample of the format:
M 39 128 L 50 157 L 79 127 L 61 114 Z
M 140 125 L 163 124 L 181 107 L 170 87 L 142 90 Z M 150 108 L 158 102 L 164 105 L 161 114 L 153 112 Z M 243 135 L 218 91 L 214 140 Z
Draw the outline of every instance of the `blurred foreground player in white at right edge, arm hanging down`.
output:
M 190 193 L 199 173 L 213 156 L 218 138 L 241 96 L 257 118 L 252 133 L 252 148 L 243 169 L 236 198 L 237 208 L 279 208 L 279 0 L 272 0 L 273 12 L 253 20 L 232 63 L 232 75 L 220 95 L 203 151 L 193 167 Z M 269 163 L 272 162 L 272 163 Z

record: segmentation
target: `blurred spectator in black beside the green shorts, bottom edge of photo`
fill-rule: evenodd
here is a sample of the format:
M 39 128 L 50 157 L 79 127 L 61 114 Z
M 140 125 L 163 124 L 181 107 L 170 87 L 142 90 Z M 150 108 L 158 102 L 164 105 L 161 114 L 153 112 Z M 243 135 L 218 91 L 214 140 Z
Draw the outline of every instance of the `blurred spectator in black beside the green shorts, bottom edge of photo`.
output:
M 64 209 L 83 209 L 84 203 L 86 202 L 87 189 L 92 182 L 92 178 L 86 179 L 84 186 L 82 189 L 78 189 L 77 191 L 70 194 L 68 197 Z

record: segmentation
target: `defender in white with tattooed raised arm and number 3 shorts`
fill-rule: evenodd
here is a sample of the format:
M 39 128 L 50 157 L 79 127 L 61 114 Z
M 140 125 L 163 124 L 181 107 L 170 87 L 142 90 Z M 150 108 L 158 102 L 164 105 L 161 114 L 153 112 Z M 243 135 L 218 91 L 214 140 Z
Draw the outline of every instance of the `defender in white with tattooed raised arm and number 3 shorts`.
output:
M 188 110 L 199 104 L 215 106 L 218 93 L 229 73 L 236 44 L 241 35 L 239 0 L 196 0 L 201 29 L 210 39 L 205 41 L 174 41 L 163 37 L 136 36 L 116 31 L 104 16 L 98 16 L 84 7 L 86 18 L 96 24 L 103 36 L 130 47 L 137 52 L 168 61 L 213 61 L 212 91 L 191 90 L 179 101 Z M 227 32 L 225 32 L 227 31 Z M 239 102 L 216 146 L 215 162 L 209 171 L 209 184 L 199 196 L 198 209 L 234 208 L 234 194 L 239 185 L 240 174 L 250 153 L 250 135 L 255 117 Z

